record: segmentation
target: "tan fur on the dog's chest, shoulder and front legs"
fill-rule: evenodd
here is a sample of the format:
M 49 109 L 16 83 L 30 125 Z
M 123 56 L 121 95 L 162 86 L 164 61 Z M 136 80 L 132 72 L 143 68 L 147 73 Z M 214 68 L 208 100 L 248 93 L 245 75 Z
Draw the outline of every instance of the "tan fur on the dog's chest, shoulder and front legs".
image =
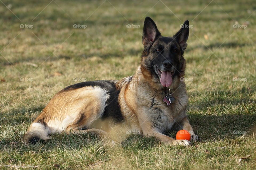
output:
M 155 96 L 155 100 L 158 101 L 156 107 L 161 108 L 164 113 L 161 116 L 165 117 L 164 119 L 166 120 L 162 126 L 171 129 L 174 123 L 181 122 L 181 127 L 183 126 L 183 129 L 189 131 L 190 134 L 194 134 L 193 129 L 187 120 L 185 111 L 188 103 L 185 83 L 183 81 L 174 82 L 174 87 L 170 92 L 176 101 L 168 107 L 166 103 L 162 101 L 164 93 L 161 89 L 161 85 L 152 80 L 149 71 L 143 66 L 138 67 L 133 79 L 139 81 L 131 80 L 129 83 L 127 81 L 127 84 L 125 84 L 124 78 L 121 80 L 122 83 L 119 82 L 119 84 L 122 85 L 121 94 L 123 94 L 119 96 L 119 104 L 121 105 L 123 115 L 126 117 L 127 124 L 131 125 L 131 129 L 142 131 L 143 135 L 148 137 L 155 136 L 163 142 L 172 143 L 174 145 L 188 145 L 188 141 L 174 140 L 173 138 L 160 133 L 166 129 L 159 129 L 159 131 L 153 129 L 151 121 L 154 119 L 154 115 L 152 115 L 152 117 L 149 115 L 149 113 L 152 112 L 149 109 L 152 103 L 150 96 Z M 161 125 L 158 124 L 158 126 Z M 192 140 L 195 140 L 196 138 L 197 136 L 191 135 Z

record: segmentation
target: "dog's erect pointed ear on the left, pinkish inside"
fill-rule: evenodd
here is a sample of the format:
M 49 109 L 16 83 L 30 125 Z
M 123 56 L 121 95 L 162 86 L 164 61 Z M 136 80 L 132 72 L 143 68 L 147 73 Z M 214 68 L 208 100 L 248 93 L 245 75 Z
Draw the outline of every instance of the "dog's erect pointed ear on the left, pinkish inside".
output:
M 155 25 L 155 22 L 147 16 L 143 26 L 142 44 L 145 47 L 150 46 L 159 35 L 160 32 L 157 29 L 157 25 Z

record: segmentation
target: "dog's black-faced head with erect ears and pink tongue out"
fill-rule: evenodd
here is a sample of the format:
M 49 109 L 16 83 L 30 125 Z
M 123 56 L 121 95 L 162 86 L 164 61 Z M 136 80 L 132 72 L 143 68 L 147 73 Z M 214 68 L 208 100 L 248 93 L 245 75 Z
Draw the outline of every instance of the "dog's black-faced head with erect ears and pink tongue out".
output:
M 187 47 L 189 21 L 173 37 L 163 37 L 154 21 L 146 17 L 143 27 L 144 45 L 141 65 L 147 69 L 151 78 L 163 88 L 173 88 L 183 77 L 186 67 L 183 53 Z

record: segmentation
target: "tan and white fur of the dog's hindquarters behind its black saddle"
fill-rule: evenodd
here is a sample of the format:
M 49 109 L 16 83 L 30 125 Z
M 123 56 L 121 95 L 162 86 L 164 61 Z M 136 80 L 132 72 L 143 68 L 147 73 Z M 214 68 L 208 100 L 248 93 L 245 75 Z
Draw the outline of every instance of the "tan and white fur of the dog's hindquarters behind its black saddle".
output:
M 92 124 L 101 117 L 108 97 L 107 91 L 100 87 L 89 86 L 68 91 L 63 89 L 50 100 L 30 125 L 23 141 L 28 143 L 27 138 L 31 135 L 37 135 L 46 140 L 49 137 L 45 135 L 45 131 L 47 133 L 63 131 L 69 133 Z M 39 123 L 45 125 L 45 128 L 40 127 L 41 131 L 34 128 L 34 124 Z M 38 132 L 35 133 L 35 131 Z

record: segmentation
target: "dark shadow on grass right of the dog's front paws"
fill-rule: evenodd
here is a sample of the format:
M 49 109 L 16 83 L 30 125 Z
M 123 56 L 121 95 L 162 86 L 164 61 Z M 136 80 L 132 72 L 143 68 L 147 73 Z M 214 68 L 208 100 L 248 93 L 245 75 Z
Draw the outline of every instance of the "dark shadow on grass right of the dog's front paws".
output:
M 199 115 L 189 114 L 190 123 L 200 141 L 235 139 L 250 134 L 256 116 L 250 114 Z

